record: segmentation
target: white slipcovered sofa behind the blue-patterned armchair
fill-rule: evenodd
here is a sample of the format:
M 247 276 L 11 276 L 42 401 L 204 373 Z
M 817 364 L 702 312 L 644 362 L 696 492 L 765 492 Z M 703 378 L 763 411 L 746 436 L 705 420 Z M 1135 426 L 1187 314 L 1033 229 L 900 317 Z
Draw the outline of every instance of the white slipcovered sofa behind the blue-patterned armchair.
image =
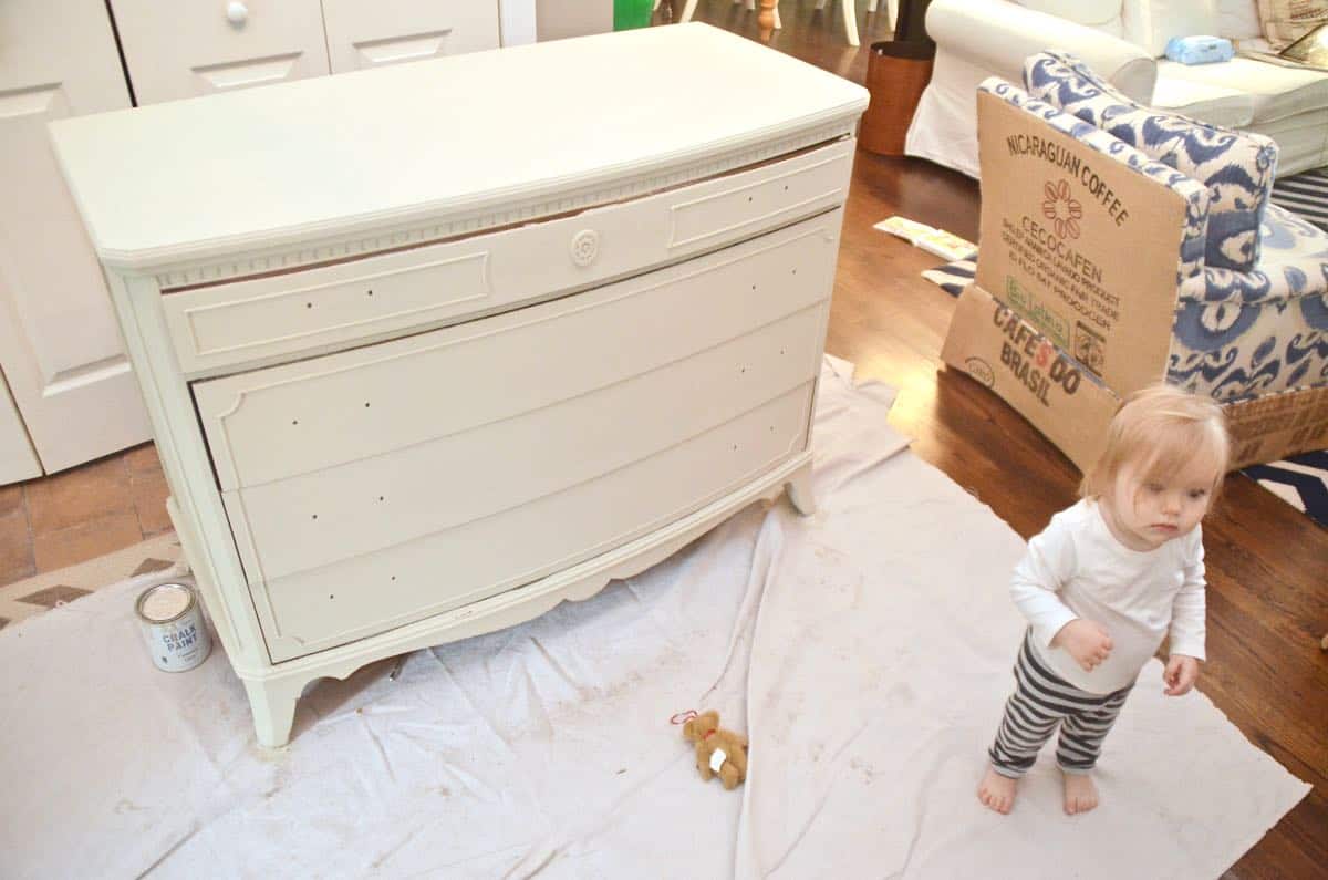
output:
M 1046 49 L 1080 57 L 1139 104 L 1271 137 L 1278 175 L 1328 165 L 1328 73 L 1236 57 L 1183 65 L 1163 55 L 1171 36 L 1259 39 L 1256 0 L 934 0 L 931 84 L 904 152 L 979 177 L 977 85 L 1019 82 L 1024 60 Z

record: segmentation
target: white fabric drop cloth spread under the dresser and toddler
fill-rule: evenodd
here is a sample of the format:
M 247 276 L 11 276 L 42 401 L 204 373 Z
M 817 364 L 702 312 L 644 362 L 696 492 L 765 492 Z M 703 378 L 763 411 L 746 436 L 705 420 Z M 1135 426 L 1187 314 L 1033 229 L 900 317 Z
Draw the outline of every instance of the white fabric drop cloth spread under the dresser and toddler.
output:
M 256 747 L 219 649 L 157 671 L 142 582 L 0 631 L 5 876 L 1202 877 L 1304 786 L 1201 694 L 1145 669 L 1061 812 L 1044 755 L 1015 812 L 975 787 L 1011 685 L 1023 541 L 827 364 L 819 512 L 754 505 L 655 569 L 502 633 L 301 701 Z M 1201 678 L 1202 682 L 1202 678 Z M 748 730 L 703 784 L 680 727 Z

